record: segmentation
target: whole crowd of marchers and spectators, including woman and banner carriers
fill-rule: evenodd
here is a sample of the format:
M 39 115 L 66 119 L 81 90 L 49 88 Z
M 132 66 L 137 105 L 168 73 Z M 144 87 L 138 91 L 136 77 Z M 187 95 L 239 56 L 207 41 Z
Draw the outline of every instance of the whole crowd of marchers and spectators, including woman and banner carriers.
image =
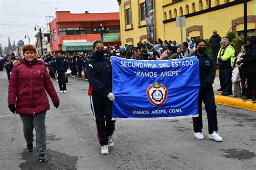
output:
M 217 31 L 213 31 L 213 36 L 217 36 Z M 217 48 L 217 40 L 219 41 L 217 38 L 211 40 L 214 48 Z M 190 37 L 182 44 L 158 39 L 154 45 L 143 42 L 138 43 L 137 47 L 128 44 L 124 47 L 104 47 L 103 42 L 96 40 L 90 53 L 63 54 L 58 51 L 57 55 L 46 56 L 36 56 L 35 47 L 26 45 L 23 47 L 24 59 L 11 54 L 4 63 L 9 79 L 8 107 L 10 111 L 21 116 L 29 152 L 33 151 L 32 130 L 35 127 L 39 161 L 44 162 L 47 160 L 44 121 L 46 110 L 50 109 L 45 91 L 52 98 L 53 105 L 56 108 L 59 106 L 58 95 L 49 80 L 51 78 L 58 81 L 60 93 L 67 93 L 68 76 L 82 80 L 84 72 L 85 80 L 90 83 L 91 108 L 96 119 L 101 153 L 108 154 L 109 146 L 114 145 L 112 134 L 115 123 L 112 120 L 112 102 L 115 97 L 112 93 L 111 56 L 134 60 L 169 60 L 195 56 L 199 60 L 200 87 L 199 117 L 193 118 L 194 137 L 204 139 L 201 111 L 204 102 L 208 118 L 208 138 L 222 141 L 223 138 L 217 133 L 217 111 L 212 87 L 216 65 L 220 69 L 221 88 L 218 91 L 223 91 L 222 95 L 232 95 L 233 82 L 234 97 L 245 96 L 242 100 L 256 102 L 256 37 L 246 39 L 246 44 L 241 47 L 238 56 L 235 56 L 234 48 L 227 38 L 221 38 L 219 44 L 221 47 L 219 46 L 216 58 L 205 53 L 205 40 Z M 18 60 L 21 61 L 17 62 Z M 28 87 L 33 87 L 32 91 Z

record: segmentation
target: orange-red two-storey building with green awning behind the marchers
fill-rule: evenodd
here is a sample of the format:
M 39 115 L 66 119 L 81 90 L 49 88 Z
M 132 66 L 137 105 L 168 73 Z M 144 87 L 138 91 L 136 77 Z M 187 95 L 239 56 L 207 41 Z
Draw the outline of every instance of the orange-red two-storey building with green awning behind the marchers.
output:
M 91 51 L 92 42 L 121 45 L 119 13 L 70 13 L 57 11 L 49 24 L 51 52 Z

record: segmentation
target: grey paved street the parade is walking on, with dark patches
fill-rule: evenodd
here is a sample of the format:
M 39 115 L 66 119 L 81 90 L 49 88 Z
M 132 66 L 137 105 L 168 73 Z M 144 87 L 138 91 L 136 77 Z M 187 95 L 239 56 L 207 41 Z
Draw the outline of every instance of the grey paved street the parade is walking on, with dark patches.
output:
M 217 105 L 223 142 L 193 137 L 192 119 L 117 120 L 115 146 L 100 154 L 88 82 L 69 77 L 68 93 L 46 114 L 49 161 L 28 153 L 22 122 L 8 109 L 8 79 L 0 72 L 0 169 L 255 169 L 256 112 Z M 51 100 L 50 100 L 51 101 Z M 34 142 L 35 145 L 35 142 Z M 253 168 L 254 167 L 254 168 Z

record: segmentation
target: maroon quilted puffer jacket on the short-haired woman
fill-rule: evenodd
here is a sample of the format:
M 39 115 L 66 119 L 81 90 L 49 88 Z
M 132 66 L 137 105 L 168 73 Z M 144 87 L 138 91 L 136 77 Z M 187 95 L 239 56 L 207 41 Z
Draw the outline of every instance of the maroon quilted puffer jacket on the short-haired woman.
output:
M 45 90 L 53 103 L 59 103 L 43 60 L 17 62 L 11 72 L 8 91 L 8 103 L 16 104 L 16 113 L 33 115 L 49 110 L 50 104 Z

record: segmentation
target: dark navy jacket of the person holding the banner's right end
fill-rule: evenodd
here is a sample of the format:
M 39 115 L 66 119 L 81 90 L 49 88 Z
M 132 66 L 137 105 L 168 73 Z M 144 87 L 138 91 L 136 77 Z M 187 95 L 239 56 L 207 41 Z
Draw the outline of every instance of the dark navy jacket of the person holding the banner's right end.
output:
M 199 60 L 199 76 L 200 76 L 200 89 L 206 90 L 212 88 L 212 84 L 216 75 L 216 66 L 214 60 L 207 54 L 199 56 L 197 52 L 194 52 Z

